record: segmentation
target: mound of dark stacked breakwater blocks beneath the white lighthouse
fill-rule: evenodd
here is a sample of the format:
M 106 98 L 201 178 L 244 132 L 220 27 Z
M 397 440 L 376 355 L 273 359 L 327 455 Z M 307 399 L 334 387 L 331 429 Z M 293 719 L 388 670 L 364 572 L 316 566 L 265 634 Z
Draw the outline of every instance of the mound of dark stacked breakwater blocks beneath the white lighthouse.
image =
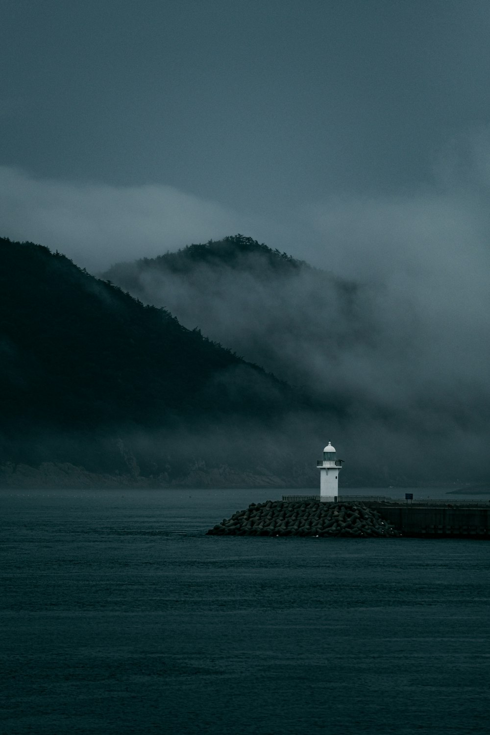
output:
M 207 531 L 214 536 L 394 537 L 399 532 L 364 503 L 251 503 Z

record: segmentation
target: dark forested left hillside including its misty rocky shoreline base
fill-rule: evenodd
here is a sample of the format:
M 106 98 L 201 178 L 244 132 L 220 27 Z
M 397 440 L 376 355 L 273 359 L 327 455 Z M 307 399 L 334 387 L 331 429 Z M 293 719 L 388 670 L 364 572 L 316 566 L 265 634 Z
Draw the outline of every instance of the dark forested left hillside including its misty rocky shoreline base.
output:
M 239 484 L 237 473 L 253 476 L 255 460 L 267 484 L 277 457 L 267 442 L 254 456 L 250 437 L 307 407 L 284 381 L 165 309 L 46 247 L 5 239 L 0 353 L 4 466 L 68 462 L 169 481 L 193 467 L 206 484 L 218 463 Z

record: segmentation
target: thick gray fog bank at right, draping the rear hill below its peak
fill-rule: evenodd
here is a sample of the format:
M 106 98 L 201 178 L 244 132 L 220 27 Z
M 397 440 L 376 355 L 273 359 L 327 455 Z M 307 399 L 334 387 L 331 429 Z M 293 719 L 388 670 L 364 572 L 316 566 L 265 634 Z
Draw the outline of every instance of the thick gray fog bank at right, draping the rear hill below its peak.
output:
M 322 249 L 310 246 L 311 260 L 329 273 L 303 270 L 274 279 L 253 259 L 242 270 L 148 269 L 138 274 L 135 293 L 279 376 L 347 401 L 350 420 L 337 428 L 355 447 L 358 466 L 369 463 L 370 453 L 381 454 L 390 473 L 394 467 L 408 473 L 408 457 L 417 456 L 424 472 L 444 473 L 457 448 L 469 473 L 484 473 L 490 440 L 485 143 L 486 137 L 471 140 L 478 166 L 461 148 L 430 188 L 337 197 L 306 208 L 323 240 Z M 304 245 L 301 254 L 307 253 Z

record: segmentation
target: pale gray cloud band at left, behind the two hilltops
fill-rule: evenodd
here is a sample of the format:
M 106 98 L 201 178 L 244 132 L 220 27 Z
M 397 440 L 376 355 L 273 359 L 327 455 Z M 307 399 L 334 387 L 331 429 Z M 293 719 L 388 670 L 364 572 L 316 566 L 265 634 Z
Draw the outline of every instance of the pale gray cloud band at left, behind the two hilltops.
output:
M 59 249 L 89 270 L 228 232 L 274 227 L 162 184 L 60 182 L 7 166 L 0 167 L 0 218 L 4 236 Z

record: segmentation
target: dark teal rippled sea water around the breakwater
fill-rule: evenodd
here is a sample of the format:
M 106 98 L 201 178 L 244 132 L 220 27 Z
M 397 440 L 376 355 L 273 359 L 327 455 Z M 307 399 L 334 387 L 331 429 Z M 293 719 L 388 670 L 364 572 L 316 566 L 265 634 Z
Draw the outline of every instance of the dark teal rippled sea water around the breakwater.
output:
M 280 496 L 2 491 L 1 733 L 488 733 L 490 543 L 205 535 Z

